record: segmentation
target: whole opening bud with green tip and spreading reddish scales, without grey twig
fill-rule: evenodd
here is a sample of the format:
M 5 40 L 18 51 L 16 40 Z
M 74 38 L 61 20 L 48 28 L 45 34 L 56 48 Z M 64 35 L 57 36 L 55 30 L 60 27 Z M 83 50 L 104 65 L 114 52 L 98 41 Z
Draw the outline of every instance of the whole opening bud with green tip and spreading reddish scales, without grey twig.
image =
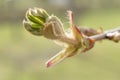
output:
M 64 31 L 63 24 L 60 19 L 54 15 L 49 15 L 44 9 L 33 8 L 26 12 L 23 21 L 25 29 L 33 35 L 44 36 L 47 39 L 54 40 L 58 43 L 66 43 L 64 49 L 53 56 L 46 62 L 46 67 L 51 67 L 67 57 L 74 56 L 78 50 L 85 52 L 94 45 L 94 40 L 84 35 L 73 23 L 73 13 L 68 11 L 70 29 L 72 36 Z

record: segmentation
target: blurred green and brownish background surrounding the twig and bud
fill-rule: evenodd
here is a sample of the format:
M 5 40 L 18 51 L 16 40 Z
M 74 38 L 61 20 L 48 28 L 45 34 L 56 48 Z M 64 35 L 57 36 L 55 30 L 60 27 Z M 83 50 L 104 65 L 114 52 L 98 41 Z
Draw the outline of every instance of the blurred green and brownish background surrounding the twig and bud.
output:
M 79 26 L 120 25 L 120 0 L 0 0 L 0 80 L 120 80 L 120 44 L 111 41 L 46 69 L 44 62 L 62 48 L 25 31 L 22 20 L 33 7 L 57 15 L 66 27 L 67 10 Z

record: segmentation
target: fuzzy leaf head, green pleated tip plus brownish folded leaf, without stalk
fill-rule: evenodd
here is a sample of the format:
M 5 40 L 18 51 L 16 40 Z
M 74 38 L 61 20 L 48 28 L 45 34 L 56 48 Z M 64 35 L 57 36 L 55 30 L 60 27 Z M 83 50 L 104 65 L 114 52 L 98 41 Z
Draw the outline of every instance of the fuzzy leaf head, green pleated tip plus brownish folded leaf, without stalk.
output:
M 23 24 L 25 29 L 33 35 L 43 35 L 48 39 L 58 39 L 65 35 L 60 19 L 53 15 L 49 16 L 41 8 L 30 8 L 26 12 L 26 19 Z

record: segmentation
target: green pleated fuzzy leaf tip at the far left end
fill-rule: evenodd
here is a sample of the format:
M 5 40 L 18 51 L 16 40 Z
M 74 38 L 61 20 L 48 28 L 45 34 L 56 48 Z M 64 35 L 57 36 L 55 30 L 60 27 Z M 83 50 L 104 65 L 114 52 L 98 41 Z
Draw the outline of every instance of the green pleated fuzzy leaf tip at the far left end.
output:
M 48 17 L 49 15 L 44 9 L 30 8 L 26 12 L 26 19 L 23 20 L 23 25 L 33 35 L 41 36 Z

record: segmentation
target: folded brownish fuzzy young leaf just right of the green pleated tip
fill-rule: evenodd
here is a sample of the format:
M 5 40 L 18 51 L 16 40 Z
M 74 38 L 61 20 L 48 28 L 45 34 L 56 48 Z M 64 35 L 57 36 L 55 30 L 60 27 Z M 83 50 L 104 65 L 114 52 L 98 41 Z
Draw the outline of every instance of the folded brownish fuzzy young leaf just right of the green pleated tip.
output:
M 48 39 L 59 39 L 65 36 L 63 25 L 56 16 L 50 16 L 43 30 L 44 37 Z

